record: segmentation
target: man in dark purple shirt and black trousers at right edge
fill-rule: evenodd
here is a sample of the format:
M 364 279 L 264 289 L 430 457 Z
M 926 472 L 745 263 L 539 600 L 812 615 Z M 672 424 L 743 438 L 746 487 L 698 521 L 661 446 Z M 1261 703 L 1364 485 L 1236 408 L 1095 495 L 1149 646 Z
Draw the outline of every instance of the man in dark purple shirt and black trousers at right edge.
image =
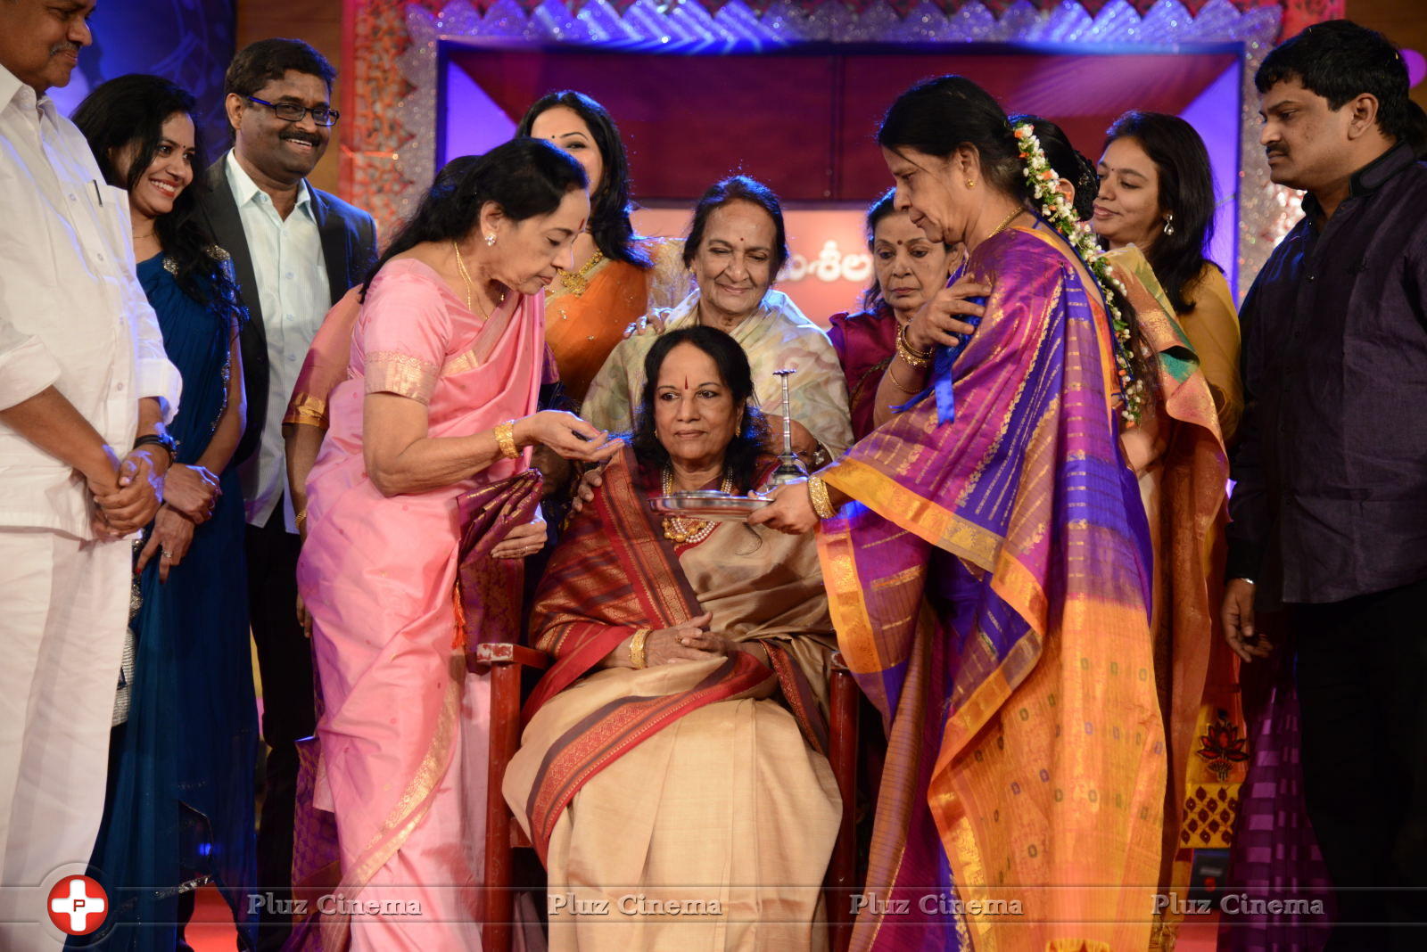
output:
M 1427 948 L 1427 165 L 1380 34 L 1309 27 L 1254 81 L 1304 218 L 1244 301 L 1224 630 L 1297 644 L 1304 798 L 1337 891 L 1329 948 Z M 1374 923 L 1374 925 L 1364 925 Z

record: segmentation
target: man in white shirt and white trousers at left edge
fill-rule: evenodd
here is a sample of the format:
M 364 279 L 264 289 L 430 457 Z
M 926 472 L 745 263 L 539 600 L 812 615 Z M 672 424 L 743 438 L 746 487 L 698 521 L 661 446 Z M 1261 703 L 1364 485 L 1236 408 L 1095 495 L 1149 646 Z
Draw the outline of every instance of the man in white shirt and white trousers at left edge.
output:
M 0 948 L 53 948 L 44 888 L 88 861 L 178 371 L 134 275 L 128 200 L 46 90 L 93 0 L 0 0 Z M 124 455 L 123 460 L 120 455 Z M 36 888 L 39 886 L 39 888 Z M 43 923 L 43 925 L 40 925 Z

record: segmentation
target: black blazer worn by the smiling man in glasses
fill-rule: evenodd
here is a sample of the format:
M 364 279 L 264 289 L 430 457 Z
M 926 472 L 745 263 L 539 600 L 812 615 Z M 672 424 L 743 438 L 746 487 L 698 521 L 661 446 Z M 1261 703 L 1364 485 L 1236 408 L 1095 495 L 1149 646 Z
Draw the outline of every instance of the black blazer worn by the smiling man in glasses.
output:
M 233 274 L 243 292 L 243 304 L 248 308 L 248 322 L 238 338 L 243 346 L 243 385 L 248 396 L 248 425 L 233 455 L 233 462 L 241 463 L 258 450 L 263 423 L 267 419 L 267 331 L 263 326 L 257 278 L 253 271 L 253 255 L 243 234 L 243 219 L 238 218 L 238 204 L 228 188 L 225 171 L 228 157 L 223 155 L 204 172 L 208 190 L 198 200 L 198 214 L 207 221 L 213 244 L 233 257 Z M 323 239 L 323 261 L 327 264 L 327 285 L 331 292 L 328 306 L 347 291 L 367 279 L 367 271 L 377 261 L 377 224 L 371 215 L 355 205 L 348 205 L 337 195 L 313 188 L 313 218 Z

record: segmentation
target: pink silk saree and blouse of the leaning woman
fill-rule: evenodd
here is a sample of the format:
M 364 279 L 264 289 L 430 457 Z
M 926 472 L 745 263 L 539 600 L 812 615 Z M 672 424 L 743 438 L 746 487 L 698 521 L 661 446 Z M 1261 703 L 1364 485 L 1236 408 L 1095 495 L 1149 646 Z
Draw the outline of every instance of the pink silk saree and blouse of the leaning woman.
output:
M 479 948 L 489 691 L 465 670 L 454 593 L 477 503 L 487 517 L 534 505 L 531 480 L 512 479 L 521 460 L 382 496 L 362 462 L 364 398 L 421 400 L 432 438 L 489 429 L 535 409 L 542 332 L 539 298 L 512 295 L 487 321 L 412 259 L 382 269 L 357 319 L 308 480 L 298 566 L 325 703 L 314 800 L 337 818 L 341 859 L 325 949 Z M 477 599 L 509 591 L 471 583 L 462 589 Z M 467 603 L 472 613 L 511 617 L 479 601 Z

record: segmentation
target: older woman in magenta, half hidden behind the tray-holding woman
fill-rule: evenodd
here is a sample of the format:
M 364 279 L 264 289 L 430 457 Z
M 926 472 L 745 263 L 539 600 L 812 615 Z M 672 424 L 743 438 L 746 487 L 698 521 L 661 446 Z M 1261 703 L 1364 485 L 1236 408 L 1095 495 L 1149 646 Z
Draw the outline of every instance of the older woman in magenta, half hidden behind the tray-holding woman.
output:
M 960 261 L 939 241 L 932 241 L 912 224 L 905 209 L 892 207 L 889 191 L 868 209 L 868 249 L 872 252 L 873 282 L 862 296 L 862 311 L 835 314 L 828 339 L 848 378 L 848 406 L 852 409 L 852 439 L 872 432 L 878 386 L 896 356 L 896 335 L 902 325 L 945 284 Z

